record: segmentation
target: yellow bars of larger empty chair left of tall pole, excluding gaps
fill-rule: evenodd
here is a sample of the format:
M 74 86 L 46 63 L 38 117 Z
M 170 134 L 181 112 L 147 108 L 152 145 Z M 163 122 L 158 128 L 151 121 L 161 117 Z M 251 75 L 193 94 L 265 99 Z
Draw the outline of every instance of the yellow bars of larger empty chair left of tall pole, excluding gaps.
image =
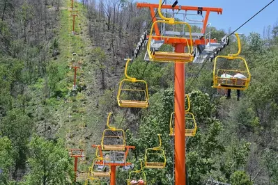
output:
M 117 101 L 118 101 L 118 106 L 121 107 L 133 107 L 133 108 L 147 108 L 148 107 L 148 84 L 144 80 L 137 80 L 136 78 L 132 78 L 128 76 L 128 63 L 130 62 L 130 58 L 128 58 L 128 61 L 125 64 L 125 78 L 123 79 L 120 83 L 120 86 L 118 87 L 118 95 L 117 95 Z M 144 86 L 146 86 L 146 90 L 137 90 L 137 89 L 127 89 L 123 88 L 123 84 L 125 82 L 131 82 L 131 83 L 144 83 Z M 143 92 L 145 95 L 144 100 L 124 100 L 121 99 L 121 92 L 122 91 L 137 91 L 137 92 Z

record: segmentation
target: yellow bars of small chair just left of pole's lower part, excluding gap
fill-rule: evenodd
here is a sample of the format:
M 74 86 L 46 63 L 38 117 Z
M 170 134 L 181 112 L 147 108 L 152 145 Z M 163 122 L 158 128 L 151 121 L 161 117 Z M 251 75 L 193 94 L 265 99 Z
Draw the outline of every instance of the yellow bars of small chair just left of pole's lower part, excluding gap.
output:
M 146 152 L 145 152 L 145 167 L 146 168 L 165 168 L 165 166 L 166 166 L 165 152 L 161 148 L 161 145 L 162 145 L 161 137 L 160 137 L 161 135 L 157 134 L 157 136 L 159 138 L 160 145 L 158 147 L 153 147 L 153 148 L 146 149 Z M 149 162 L 148 161 L 148 154 L 160 155 L 164 158 L 164 161 L 163 162 Z

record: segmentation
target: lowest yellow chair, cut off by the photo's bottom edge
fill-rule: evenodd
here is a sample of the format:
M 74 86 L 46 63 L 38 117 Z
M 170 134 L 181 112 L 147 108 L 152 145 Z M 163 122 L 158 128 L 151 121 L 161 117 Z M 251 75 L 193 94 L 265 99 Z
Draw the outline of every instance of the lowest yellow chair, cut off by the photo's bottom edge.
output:
M 130 175 L 127 179 L 128 185 L 132 185 L 132 184 L 146 185 L 147 184 L 146 174 L 143 170 L 142 161 L 140 161 L 140 162 L 141 162 L 140 170 L 134 170 L 134 171 L 130 172 Z M 132 181 L 134 181 L 134 183 L 132 183 Z M 135 182 L 137 182 L 137 183 L 135 183 Z

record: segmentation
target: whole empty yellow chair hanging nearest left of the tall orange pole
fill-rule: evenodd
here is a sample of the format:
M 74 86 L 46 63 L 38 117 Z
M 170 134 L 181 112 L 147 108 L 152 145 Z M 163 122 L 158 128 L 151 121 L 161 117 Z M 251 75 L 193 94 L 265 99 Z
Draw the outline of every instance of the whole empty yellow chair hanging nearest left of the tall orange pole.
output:
M 138 80 L 136 78 L 132 78 L 128 76 L 129 62 L 130 62 L 130 58 L 128 58 L 128 61 L 125 64 L 126 79 L 123 79 L 121 81 L 120 86 L 118 88 L 118 95 L 117 95 L 118 106 L 132 107 L 132 108 L 147 108 L 148 107 L 148 85 L 144 80 Z M 134 97 L 131 97 L 132 94 Z

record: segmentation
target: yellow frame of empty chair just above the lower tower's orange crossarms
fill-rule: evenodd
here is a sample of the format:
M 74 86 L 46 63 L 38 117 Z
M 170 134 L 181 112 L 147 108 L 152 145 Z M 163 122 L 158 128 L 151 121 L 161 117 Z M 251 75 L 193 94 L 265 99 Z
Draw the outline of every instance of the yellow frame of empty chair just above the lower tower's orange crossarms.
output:
M 101 139 L 101 147 L 102 150 L 125 150 L 125 131 L 123 129 L 116 129 L 116 127 L 110 127 L 109 125 L 109 118 L 112 115 L 112 113 L 108 113 L 107 117 L 107 127 L 109 129 L 105 129 L 102 133 L 102 139 Z M 107 131 L 119 131 L 122 133 L 122 136 L 106 136 L 105 133 Z M 105 145 L 104 140 L 105 138 L 121 138 L 123 140 L 123 145 Z

